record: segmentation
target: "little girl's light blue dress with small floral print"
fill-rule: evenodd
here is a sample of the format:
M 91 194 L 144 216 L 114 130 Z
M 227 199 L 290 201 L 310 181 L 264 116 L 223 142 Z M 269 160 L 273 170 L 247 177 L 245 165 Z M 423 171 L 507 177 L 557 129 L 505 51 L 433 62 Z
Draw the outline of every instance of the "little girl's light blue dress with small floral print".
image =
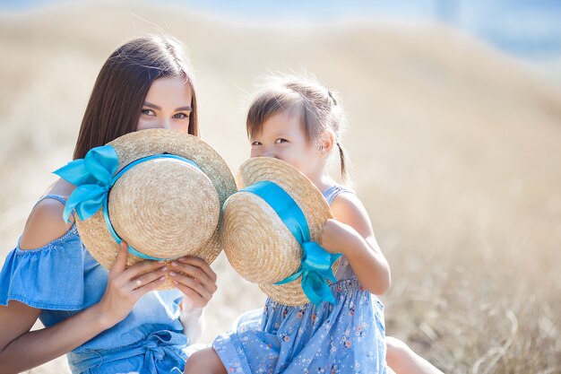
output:
M 324 191 L 329 204 L 349 190 Z M 341 257 L 331 285 L 336 304 L 289 307 L 267 299 L 264 309 L 238 318 L 212 346 L 229 373 L 384 374 L 384 306 L 363 290 Z

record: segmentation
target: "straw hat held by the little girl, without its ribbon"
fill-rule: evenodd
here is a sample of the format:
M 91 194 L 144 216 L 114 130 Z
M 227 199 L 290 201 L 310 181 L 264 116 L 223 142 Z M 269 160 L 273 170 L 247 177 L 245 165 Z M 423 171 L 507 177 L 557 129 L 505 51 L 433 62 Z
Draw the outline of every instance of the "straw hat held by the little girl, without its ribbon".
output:
M 317 187 L 287 162 L 269 157 L 249 159 L 237 173 L 240 188 L 263 180 L 279 185 L 294 199 L 306 216 L 311 240 L 319 242 L 324 223 L 332 218 L 332 213 Z M 225 252 L 237 272 L 249 276 L 246 279 L 258 283 L 272 300 L 283 305 L 309 302 L 300 278 L 282 285 L 273 284 L 298 269 L 302 251 L 272 208 L 260 197 L 242 191 L 230 196 L 224 210 Z M 338 265 L 339 261 L 332 266 L 333 273 Z

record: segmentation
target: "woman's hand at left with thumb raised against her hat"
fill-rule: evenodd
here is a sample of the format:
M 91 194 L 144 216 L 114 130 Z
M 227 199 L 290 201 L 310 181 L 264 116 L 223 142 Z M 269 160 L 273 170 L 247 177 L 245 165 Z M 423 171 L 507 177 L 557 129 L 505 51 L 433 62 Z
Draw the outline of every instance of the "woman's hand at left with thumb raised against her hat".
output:
M 158 261 L 142 261 L 126 268 L 128 245 L 121 242 L 108 285 L 98 307 L 107 328 L 116 325 L 133 310 L 136 301 L 155 290 L 166 279 L 168 266 Z

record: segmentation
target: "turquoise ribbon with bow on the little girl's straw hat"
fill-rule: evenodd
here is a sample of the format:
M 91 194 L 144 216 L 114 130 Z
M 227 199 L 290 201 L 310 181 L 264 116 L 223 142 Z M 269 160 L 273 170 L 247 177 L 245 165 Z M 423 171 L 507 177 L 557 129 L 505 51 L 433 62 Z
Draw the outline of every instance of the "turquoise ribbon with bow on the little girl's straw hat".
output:
M 341 254 L 329 253 L 319 244 L 311 241 L 306 216 L 296 201 L 276 183 L 263 180 L 255 185 L 242 188 L 240 191 L 255 194 L 271 205 L 302 247 L 302 259 L 296 273 L 275 284 L 293 282 L 301 276 L 302 290 L 311 302 L 316 305 L 322 301 L 335 303 L 327 280 L 337 282 L 332 272 L 332 265 L 341 257 Z

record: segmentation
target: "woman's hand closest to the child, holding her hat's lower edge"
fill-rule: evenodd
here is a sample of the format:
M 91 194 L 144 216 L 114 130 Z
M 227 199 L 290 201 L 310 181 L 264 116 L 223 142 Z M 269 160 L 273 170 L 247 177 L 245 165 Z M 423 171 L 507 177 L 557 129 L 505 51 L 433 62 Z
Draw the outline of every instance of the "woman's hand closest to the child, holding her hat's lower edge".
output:
M 186 309 L 203 309 L 218 289 L 216 273 L 203 259 L 186 256 L 171 263 L 171 279 L 184 294 Z

